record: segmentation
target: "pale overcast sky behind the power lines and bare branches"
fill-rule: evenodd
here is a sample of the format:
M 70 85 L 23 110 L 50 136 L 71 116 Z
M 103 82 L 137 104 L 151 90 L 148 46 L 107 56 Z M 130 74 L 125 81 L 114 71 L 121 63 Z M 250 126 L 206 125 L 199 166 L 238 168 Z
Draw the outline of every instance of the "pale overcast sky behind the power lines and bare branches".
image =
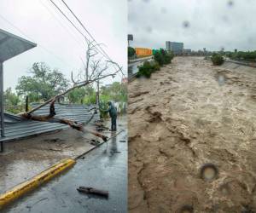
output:
M 96 41 L 106 44 L 107 47 L 102 48 L 120 66 L 124 66 L 126 73 L 127 1 L 66 0 L 66 2 L 84 22 Z M 67 12 L 61 0 L 55 0 L 55 3 Z M 39 44 L 37 48 L 4 62 L 5 89 L 7 87 L 14 89 L 18 78 L 28 75 L 29 68 L 36 61 L 44 61 L 51 68 L 59 68 L 67 78 L 70 78 L 71 71 L 78 71 L 82 67 L 80 57 L 85 55 L 83 37 L 63 19 L 49 0 L 1 0 L 0 9 L 0 28 Z M 72 18 L 71 15 L 69 17 Z M 6 20 L 20 28 L 26 35 Z M 120 76 L 114 79 L 108 78 L 104 83 L 120 79 Z

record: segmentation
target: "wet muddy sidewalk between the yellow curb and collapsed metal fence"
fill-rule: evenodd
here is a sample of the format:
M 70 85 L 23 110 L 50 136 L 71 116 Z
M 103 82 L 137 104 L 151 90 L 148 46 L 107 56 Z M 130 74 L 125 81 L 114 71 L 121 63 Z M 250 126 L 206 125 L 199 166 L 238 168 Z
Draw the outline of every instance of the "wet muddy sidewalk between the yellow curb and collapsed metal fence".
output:
M 87 127 L 90 130 L 96 128 L 92 123 Z M 102 134 L 110 135 L 109 132 Z M 95 135 L 69 128 L 7 142 L 5 152 L 0 154 L 0 193 L 36 176 L 63 158 L 76 158 L 90 151 L 96 147 L 90 144 L 91 140 L 102 142 Z

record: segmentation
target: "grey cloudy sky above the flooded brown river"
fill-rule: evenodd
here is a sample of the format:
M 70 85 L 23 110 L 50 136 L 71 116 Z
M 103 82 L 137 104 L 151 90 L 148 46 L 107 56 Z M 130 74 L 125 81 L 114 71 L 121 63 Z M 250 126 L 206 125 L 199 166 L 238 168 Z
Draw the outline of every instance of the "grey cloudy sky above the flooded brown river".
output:
M 254 0 L 129 0 L 131 46 L 185 49 L 256 49 Z M 187 27 L 185 27 L 187 25 Z

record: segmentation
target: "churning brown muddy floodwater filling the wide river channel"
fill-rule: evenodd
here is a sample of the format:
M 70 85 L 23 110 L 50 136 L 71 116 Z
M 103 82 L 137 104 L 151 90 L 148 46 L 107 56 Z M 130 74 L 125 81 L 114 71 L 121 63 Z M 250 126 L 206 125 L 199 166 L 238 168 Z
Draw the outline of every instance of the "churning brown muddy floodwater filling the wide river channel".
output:
M 256 212 L 256 69 L 176 57 L 128 118 L 130 212 Z

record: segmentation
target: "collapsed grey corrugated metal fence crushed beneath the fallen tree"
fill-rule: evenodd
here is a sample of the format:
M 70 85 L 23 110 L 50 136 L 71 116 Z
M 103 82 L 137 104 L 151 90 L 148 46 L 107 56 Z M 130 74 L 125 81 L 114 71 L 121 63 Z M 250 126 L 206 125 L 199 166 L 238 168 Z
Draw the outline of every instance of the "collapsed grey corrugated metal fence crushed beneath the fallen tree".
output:
M 32 104 L 32 107 L 36 107 L 37 105 L 38 104 Z M 90 120 L 94 112 L 93 110 L 90 111 L 92 107 L 94 106 L 55 104 L 55 118 L 68 118 L 84 124 Z M 49 114 L 49 105 L 38 109 L 35 114 Z M 96 119 L 99 119 L 99 114 L 95 114 L 93 120 Z M 69 128 L 69 126 L 65 124 L 30 121 L 9 113 L 4 113 L 4 124 L 5 137 L 0 138 L 0 141 L 9 141 L 29 135 L 38 135 L 44 132 Z

